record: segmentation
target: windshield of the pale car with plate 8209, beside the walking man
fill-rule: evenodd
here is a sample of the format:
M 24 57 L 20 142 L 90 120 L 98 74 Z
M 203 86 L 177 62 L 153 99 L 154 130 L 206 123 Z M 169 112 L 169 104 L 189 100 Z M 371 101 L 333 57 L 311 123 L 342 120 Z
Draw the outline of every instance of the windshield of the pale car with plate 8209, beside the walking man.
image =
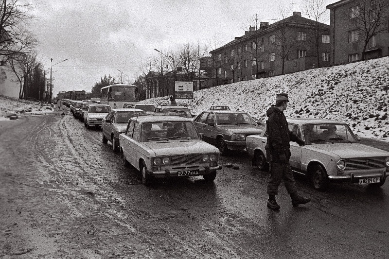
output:
M 302 134 L 306 144 L 358 142 L 347 124 L 305 124 Z

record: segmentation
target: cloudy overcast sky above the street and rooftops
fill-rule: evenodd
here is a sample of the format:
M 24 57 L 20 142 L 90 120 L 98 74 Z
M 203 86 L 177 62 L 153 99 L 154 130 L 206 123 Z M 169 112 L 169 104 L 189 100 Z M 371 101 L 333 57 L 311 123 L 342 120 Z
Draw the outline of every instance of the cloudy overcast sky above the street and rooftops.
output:
M 144 58 L 159 56 L 155 48 L 164 52 L 187 42 L 206 44 L 214 35 L 225 44 L 243 35 L 243 24 L 255 14 L 274 22 L 280 4 L 292 15 L 291 0 L 40 0 L 31 30 L 48 79 L 50 59 L 53 65 L 68 59 L 53 66 L 56 96 L 58 91 L 90 91 L 105 74 L 119 78 L 117 69 L 133 81 Z M 293 9 L 301 11 L 299 4 Z

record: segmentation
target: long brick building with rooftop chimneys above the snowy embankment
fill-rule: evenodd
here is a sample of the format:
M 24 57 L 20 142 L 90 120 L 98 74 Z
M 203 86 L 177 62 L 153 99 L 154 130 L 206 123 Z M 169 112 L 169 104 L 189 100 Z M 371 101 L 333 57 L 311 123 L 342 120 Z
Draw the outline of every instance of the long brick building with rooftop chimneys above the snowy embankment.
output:
M 261 22 L 258 30 L 250 27 L 245 35 L 210 52 L 212 86 L 329 66 L 330 26 L 317 25 L 316 34 L 314 20 L 293 12 L 271 25 Z

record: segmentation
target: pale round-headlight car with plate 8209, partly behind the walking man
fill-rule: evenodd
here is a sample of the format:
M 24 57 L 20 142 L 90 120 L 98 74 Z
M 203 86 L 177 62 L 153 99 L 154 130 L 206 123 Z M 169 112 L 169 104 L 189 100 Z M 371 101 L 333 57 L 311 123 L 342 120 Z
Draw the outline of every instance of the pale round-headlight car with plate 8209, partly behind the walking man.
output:
M 305 141 L 290 142 L 290 166 L 310 178 L 317 190 L 331 182 L 369 184 L 381 187 L 389 173 L 389 152 L 359 143 L 350 127 L 341 121 L 287 118 L 289 131 Z M 267 131 L 247 138 L 247 152 L 260 170 L 268 169 L 265 145 Z

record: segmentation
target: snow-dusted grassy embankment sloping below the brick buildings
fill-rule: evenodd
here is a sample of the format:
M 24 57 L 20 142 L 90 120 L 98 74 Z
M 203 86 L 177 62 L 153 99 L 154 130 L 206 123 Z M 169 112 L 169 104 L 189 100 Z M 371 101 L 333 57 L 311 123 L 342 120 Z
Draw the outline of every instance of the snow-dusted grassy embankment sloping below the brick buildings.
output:
M 191 110 L 199 113 L 212 104 L 225 104 L 265 121 L 267 108 L 280 92 L 289 95 L 286 116 L 345 121 L 361 137 L 389 141 L 388 56 L 199 90 Z M 168 99 L 147 103 L 168 103 Z

